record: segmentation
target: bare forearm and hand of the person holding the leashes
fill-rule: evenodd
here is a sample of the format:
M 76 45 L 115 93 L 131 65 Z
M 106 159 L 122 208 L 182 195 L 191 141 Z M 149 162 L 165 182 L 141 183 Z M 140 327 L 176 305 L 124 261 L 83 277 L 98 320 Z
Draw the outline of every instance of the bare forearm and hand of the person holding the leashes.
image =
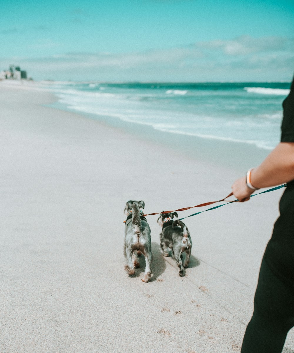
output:
M 251 171 L 252 186 L 275 186 L 294 179 L 294 142 L 281 142 L 265 158 L 265 160 Z M 247 201 L 254 190 L 246 185 L 245 177 L 232 185 L 233 194 L 240 201 Z

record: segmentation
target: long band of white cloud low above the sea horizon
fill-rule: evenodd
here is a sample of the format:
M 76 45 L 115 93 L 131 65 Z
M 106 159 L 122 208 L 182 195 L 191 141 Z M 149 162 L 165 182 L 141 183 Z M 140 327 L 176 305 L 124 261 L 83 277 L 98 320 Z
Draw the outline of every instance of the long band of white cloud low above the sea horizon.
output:
M 58 43 L 43 43 L 57 45 Z M 36 79 L 72 80 L 290 80 L 293 38 L 241 36 L 185 47 L 123 54 L 68 53 L 47 58 L 8 58 Z M 2 66 L 2 67 L 1 67 Z M 257 75 L 258 73 L 258 75 Z

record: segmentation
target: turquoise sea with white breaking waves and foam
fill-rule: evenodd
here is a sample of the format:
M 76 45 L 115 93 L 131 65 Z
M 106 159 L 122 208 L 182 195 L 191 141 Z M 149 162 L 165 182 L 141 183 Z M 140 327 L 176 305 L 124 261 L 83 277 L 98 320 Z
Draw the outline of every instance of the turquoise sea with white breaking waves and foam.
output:
M 271 150 L 290 83 L 54 83 L 66 108 L 152 130 Z

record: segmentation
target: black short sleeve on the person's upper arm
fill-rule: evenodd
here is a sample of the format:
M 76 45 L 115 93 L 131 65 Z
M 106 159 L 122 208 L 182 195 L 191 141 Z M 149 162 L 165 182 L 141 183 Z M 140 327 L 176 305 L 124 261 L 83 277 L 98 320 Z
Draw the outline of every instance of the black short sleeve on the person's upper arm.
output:
M 294 142 L 294 78 L 290 93 L 283 101 L 283 111 L 281 142 Z

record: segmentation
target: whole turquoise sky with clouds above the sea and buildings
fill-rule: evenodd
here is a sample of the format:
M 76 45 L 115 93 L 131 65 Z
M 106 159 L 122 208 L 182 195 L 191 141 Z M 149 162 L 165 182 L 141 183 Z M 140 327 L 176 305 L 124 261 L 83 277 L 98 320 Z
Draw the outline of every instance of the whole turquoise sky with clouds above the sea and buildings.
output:
M 293 0 L 0 0 L 0 70 L 35 80 L 290 81 Z

